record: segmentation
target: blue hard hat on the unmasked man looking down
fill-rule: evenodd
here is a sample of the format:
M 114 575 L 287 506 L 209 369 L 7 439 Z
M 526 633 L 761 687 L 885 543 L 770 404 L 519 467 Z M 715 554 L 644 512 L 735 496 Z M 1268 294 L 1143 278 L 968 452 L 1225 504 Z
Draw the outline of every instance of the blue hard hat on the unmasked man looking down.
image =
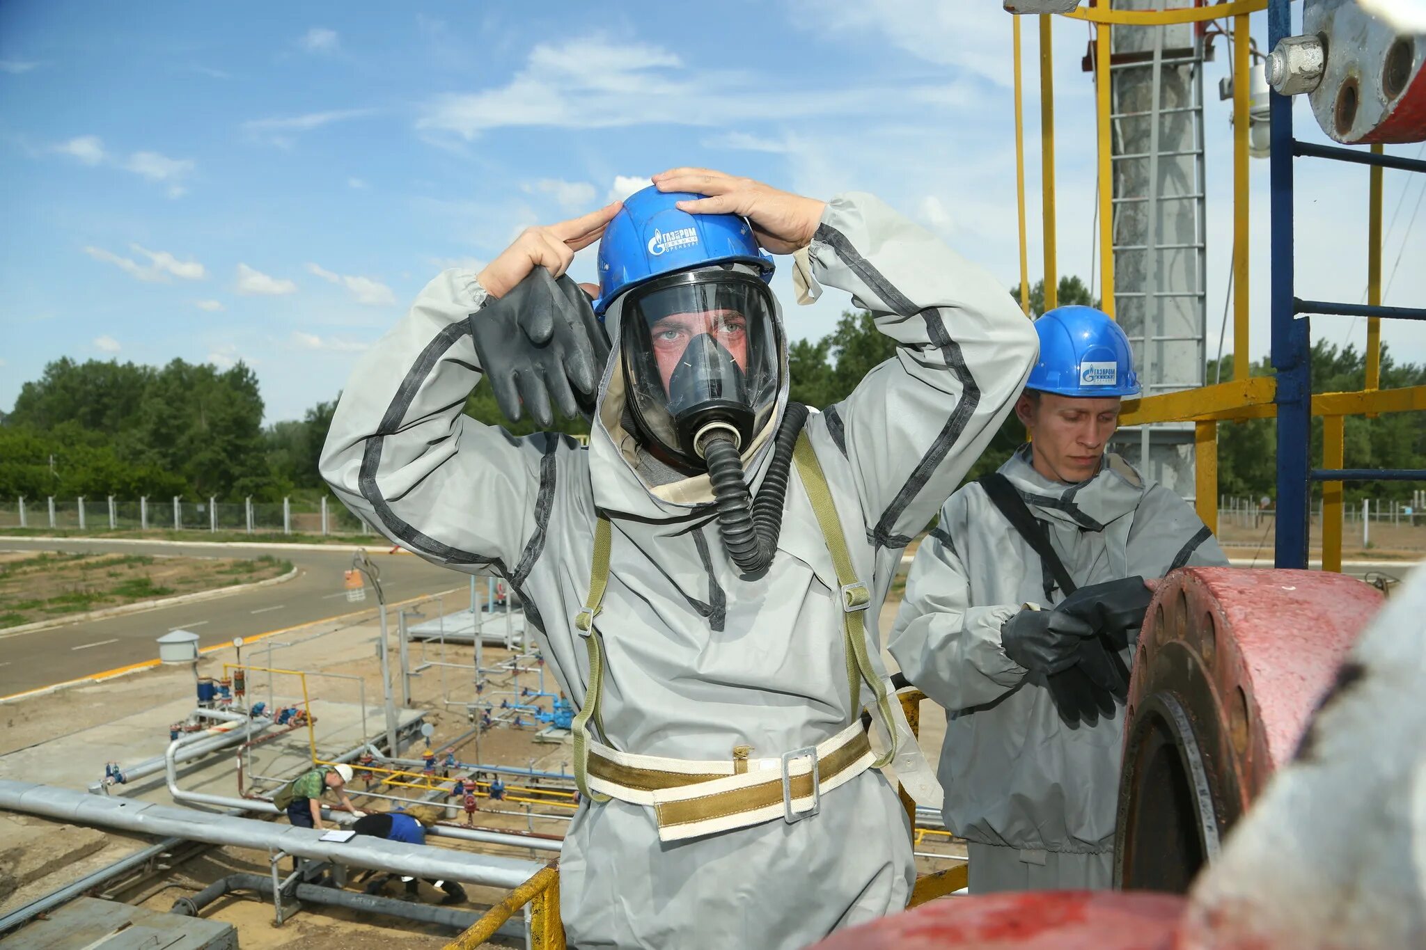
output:
M 1035 320 L 1040 359 L 1025 389 L 1061 396 L 1138 396 L 1129 338 L 1104 310 L 1057 306 Z

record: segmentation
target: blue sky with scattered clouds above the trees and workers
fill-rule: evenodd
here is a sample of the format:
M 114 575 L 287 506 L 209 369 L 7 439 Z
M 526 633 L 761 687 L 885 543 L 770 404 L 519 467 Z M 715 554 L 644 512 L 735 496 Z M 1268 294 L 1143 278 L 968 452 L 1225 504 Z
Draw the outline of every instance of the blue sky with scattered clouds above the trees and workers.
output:
M 843 10 L 829 6 L 841 6 Z M 974 6 L 974 11 L 970 7 Z M 1028 24 L 1031 279 L 1040 275 Z M 1263 23 L 1255 23 L 1266 44 Z M 1011 17 L 991 0 L 861 4 L 0 3 L 0 409 L 46 362 L 258 373 L 268 420 L 345 383 L 445 266 L 699 164 L 816 197 L 873 191 L 1018 281 Z M 1084 24 L 1057 53 L 1060 265 L 1088 276 Z M 1209 90 L 1226 56 L 1209 66 Z M 1305 104 L 1303 104 L 1305 105 Z M 1209 323 L 1231 222 L 1228 105 L 1209 95 Z M 1310 125 L 1299 107 L 1299 128 Z M 1313 127 L 1315 131 L 1315 127 Z M 1318 135 L 1319 137 L 1319 135 Z M 1393 148 L 1415 155 L 1417 147 Z M 1299 164 L 1299 168 L 1302 165 Z M 1387 172 L 1387 302 L 1426 299 L 1423 184 Z M 1266 162 L 1255 162 L 1253 355 L 1266 352 Z M 1359 299 L 1365 169 L 1299 172 L 1302 296 Z M 592 255 L 575 273 L 592 275 Z M 846 298 L 791 305 L 791 336 Z M 1350 322 L 1322 325 L 1360 340 Z M 1387 326 L 1406 359 L 1426 330 Z

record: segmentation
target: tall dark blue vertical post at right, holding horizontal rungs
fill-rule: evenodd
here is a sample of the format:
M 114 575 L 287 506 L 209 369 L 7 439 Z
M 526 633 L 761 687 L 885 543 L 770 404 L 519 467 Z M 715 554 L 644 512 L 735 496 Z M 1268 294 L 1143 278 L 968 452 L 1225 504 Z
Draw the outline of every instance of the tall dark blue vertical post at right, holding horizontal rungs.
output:
M 1293 36 L 1289 0 L 1268 4 L 1268 48 Z M 1308 446 L 1312 362 L 1308 318 L 1292 305 L 1292 98 L 1271 93 L 1272 110 L 1272 366 L 1278 372 L 1278 567 L 1308 565 Z M 1238 214 L 1248 214 L 1239 208 Z

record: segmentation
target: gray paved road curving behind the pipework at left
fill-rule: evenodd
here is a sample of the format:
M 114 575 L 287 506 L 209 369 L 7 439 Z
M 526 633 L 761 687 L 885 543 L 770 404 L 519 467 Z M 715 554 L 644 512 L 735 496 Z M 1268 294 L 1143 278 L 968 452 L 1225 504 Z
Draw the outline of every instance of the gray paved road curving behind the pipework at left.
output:
M 375 548 L 374 551 L 381 550 Z M 260 587 L 195 604 L 161 607 L 104 620 L 81 621 L 29 634 L 0 631 L 0 696 L 37 689 L 67 679 L 154 659 L 154 640 L 170 630 L 191 630 L 200 645 L 231 642 L 299 624 L 325 620 L 355 610 L 342 588 L 342 571 L 351 567 L 351 551 L 321 547 L 260 548 L 205 544 L 128 544 L 114 541 L 37 541 L 0 537 L 0 551 L 84 551 L 187 557 L 260 557 L 272 554 L 298 568 L 284 584 Z M 465 575 L 426 564 L 409 554 L 375 554 L 386 601 L 462 587 Z M 375 604 L 368 588 L 362 607 Z

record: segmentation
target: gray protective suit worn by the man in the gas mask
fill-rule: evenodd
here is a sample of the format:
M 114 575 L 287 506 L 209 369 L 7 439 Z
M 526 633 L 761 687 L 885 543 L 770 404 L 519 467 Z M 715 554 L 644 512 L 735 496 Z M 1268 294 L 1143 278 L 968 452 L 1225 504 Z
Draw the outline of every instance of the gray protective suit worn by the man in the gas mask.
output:
M 807 420 L 876 617 L 901 550 L 1008 412 L 1037 339 L 990 273 L 870 195 L 833 199 L 809 252 L 813 276 L 848 291 L 898 345 L 851 396 Z M 589 668 L 573 618 L 596 511 L 609 517 L 596 627 L 603 726 L 625 752 L 730 759 L 746 743 L 777 756 L 843 729 L 853 702 L 838 584 L 801 483 L 789 486 L 770 570 L 743 580 L 707 477 L 650 486 L 637 474 L 619 360 L 605 372 L 588 451 L 461 414 L 479 379 L 469 320 L 483 301 L 473 273 L 446 271 L 361 360 L 322 453 L 347 506 L 428 560 L 506 577 L 575 702 Z M 786 352 L 783 366 L 786 380 Z M 744 456 L 754 490 L 786 400 L 784 382 L 777 417 Z M 570 946 L 800 947 L 903 907 L 914 877 L 904 812 L 877 771 L 791 825 L 660 843 L 652 812 L 586 800 L 575 815 L 560 860 Z

